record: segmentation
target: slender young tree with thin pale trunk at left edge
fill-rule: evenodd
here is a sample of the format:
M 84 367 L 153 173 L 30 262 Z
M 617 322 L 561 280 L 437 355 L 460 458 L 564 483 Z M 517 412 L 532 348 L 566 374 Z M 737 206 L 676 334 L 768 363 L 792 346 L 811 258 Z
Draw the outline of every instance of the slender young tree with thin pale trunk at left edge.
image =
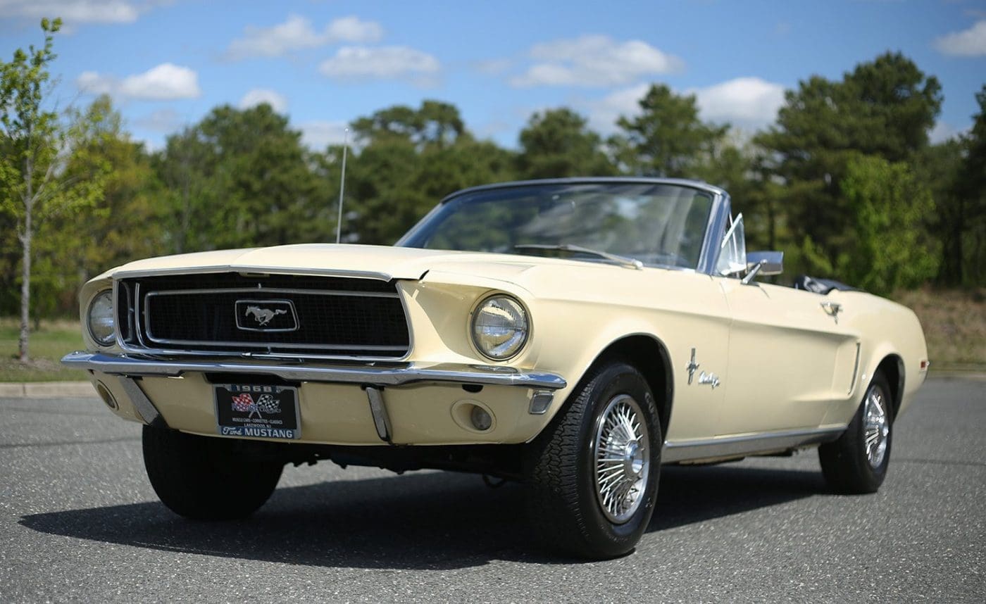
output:
M 21 335 L 19 356 L 29 359 L 32 243 L 37 226 L 52 216 L 73 212 L 99 196 L 104 168 L 87 178 L 65 174 L 64 166 L 83 134 L 77 124 L 65 124 L 44 106 L 48 65 L 54 60 L 53 37 L 61 20 L 41 20 L 44 45 L 17 49 L 9 62 L 0 62 L 0 125 L 4 154 L 0 157 L 0 204 L 13 215 L 21 243 Z M 83 128 L 84 130 L 84 128 Z

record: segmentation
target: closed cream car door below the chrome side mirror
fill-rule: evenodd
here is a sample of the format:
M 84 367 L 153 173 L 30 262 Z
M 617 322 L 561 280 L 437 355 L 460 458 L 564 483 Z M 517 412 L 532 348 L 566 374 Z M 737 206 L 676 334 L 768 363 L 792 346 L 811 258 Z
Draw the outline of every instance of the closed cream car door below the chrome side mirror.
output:
M 837 294 L 718 278 L 730 308 L 729 382 L 720 436 L 812 429 L 845 400 L 859 338 Z

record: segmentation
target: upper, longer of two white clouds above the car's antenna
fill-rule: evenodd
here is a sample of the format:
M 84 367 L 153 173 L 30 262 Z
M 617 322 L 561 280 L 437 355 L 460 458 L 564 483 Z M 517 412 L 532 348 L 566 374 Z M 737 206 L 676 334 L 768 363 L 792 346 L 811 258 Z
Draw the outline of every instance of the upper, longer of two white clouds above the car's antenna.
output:
M 384 29 L 373 21 L 342 17 L 317 32 L 312 22 L 300 15 L 288 15 L 284 23 L 269 28 L 247 26 L 244 37 L 230 42 L 226 56 L 243 59 L 251 56 L 282 56 L 294 50 L 317 48 L 335 42 L 375 42 Z

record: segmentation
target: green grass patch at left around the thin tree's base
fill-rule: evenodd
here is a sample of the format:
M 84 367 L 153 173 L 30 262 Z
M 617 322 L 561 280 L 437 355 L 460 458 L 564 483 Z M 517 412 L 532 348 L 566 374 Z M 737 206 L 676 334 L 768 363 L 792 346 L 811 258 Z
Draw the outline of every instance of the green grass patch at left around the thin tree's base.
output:
M 32 330 L 29 352 L 31 361 L 21 363 L 17 342 L 21 322 L 15 317 L 0 317 L 0 382 L 2 381 L 78 381 L 87 379 L 86 371 L 66 369 L 59 363 L 66 353 L 83 350 L 79 321 L 58 319 L 41 321 Z

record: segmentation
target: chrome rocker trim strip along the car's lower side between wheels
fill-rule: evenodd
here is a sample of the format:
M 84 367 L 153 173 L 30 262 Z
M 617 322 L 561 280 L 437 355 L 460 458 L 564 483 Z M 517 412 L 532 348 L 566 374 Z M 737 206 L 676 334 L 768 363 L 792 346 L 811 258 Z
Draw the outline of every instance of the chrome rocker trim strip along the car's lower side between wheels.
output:
M 834 440 L 845 431 L 845 426 L 836 426 L 698 440 L 666 440 L 661 459 L 670 463 L 781 451 Z

